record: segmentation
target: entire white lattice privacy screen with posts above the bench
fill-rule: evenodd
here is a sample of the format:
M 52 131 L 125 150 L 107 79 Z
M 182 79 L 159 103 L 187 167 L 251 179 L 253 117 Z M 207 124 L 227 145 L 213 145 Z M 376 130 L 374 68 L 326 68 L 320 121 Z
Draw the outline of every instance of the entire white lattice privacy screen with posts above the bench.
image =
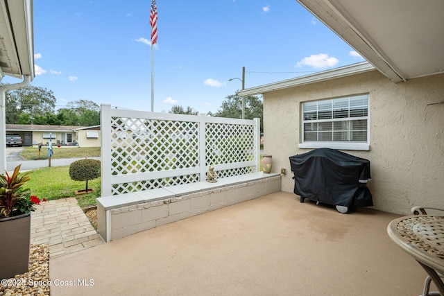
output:
M 101 106 L 102 195 L 259 170 L 259 119 L 161 114 Z

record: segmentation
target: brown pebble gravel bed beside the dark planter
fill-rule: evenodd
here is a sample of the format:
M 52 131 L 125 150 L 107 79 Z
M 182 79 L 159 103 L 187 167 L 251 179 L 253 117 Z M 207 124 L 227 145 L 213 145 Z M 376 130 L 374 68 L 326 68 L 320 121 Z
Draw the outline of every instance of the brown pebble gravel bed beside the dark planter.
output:
M 48 281 L 49 246 L 31 245 L 28 272 L 6 279 L 6 285 L 0 284 L 0 296 L 49 295 L 50 286 L 44 284 Z

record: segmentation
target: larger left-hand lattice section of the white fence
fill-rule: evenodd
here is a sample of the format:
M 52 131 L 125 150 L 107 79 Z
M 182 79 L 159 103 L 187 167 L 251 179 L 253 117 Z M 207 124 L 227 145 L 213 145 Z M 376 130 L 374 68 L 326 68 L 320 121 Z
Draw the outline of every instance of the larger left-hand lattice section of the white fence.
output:
M 127 175 L 196 167 L 198 123 L 158 119 L 111 118 L 111 174 Z M 112 194 L 198 181 L 198 175 L 113 184 Z

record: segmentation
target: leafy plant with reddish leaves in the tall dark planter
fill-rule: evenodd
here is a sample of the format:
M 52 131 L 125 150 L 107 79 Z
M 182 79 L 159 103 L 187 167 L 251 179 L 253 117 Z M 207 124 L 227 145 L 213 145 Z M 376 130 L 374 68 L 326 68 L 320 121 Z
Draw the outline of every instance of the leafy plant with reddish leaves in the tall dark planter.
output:
M 40 199 L 31 195 L 31 189 L 22 187 L 29 180 L 27 173 L 20 174 L 20 165 L 12 175 L 0 175 L 0 218 L 28 214 L 35 210 L 35 204 L 40 204 Z

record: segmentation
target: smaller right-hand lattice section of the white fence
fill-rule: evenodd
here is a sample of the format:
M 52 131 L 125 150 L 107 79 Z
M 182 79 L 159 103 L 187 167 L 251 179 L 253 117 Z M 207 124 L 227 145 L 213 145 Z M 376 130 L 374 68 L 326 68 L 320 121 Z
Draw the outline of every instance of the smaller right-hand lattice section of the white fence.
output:
M 253 125 L 207 123 L 205 128 L 205 165 L 253 161 L 255 157 Z M 254 167 L 217 171 L 218 177 L 253 173 Z

